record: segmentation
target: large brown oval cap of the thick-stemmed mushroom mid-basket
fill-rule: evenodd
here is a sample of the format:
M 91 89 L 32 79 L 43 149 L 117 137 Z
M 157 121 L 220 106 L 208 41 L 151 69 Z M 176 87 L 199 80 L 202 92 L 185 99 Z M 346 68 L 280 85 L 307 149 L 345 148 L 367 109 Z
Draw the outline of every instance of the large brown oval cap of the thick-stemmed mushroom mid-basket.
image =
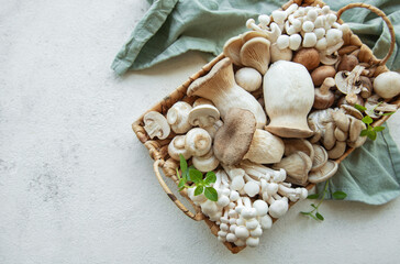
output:
M 215 157 L 229 166 L 240 163 L 251 146 L 255 131 L 256 119 L 251 111 L 231 108 L 224 124 L 215 133 Z

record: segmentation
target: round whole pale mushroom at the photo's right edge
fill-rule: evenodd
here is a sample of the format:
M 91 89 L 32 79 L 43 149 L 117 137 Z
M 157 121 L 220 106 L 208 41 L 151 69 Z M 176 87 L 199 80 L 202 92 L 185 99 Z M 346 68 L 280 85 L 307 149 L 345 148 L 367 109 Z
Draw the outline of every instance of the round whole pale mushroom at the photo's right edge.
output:
M 390 99 L 400 94 L 400 74 L 386 72 L 374 80 L 374 91 L 381 98 Z

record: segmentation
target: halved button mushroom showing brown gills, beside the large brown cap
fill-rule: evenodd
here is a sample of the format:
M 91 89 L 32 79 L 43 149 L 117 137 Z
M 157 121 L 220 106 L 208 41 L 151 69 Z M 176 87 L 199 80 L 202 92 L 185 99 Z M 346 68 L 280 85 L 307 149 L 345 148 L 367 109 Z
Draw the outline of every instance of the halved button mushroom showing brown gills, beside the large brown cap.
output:
M 207 128 L 220 119 L 220 111 L 211 105 L 200 105 L 191 109 L 188 121 L 193 127 Z

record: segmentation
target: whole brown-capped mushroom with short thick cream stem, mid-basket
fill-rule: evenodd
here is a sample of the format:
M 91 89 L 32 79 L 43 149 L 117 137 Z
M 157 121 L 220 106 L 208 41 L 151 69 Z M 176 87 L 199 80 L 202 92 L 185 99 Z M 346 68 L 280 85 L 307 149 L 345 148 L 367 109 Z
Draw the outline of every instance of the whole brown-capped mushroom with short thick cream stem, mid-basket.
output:
M 276 163 L 284 155 L 282 141 L 256 129 L 254 114 L 232 108 L 214 138 L 214 155 L 224 165 L 238 164 L 243 158 L 255 163 Z

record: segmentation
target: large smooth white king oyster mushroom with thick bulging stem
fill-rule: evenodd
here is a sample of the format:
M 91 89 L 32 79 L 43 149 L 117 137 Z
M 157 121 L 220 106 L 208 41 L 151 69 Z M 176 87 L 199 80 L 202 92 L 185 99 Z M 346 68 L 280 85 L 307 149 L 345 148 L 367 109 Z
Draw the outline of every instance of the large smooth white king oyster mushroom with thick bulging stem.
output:
M 281 138 L 311 136 L 307 116 L 314 101 L 314 86 L 305 67 L 276 62 L 264 76 L 263 86 L 265 109 L 270 118 L 266 130 Z

